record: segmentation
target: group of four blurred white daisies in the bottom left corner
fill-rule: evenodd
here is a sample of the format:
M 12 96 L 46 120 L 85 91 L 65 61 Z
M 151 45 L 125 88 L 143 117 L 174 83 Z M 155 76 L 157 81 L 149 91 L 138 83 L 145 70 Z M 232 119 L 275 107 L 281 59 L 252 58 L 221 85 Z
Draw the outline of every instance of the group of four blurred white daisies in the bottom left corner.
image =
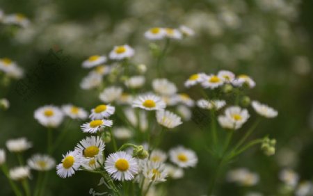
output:
M 6 170 L 3 170 L 6 176 L 12 180 L 20 181 L 22 179 L 30 178 L 31 170 L 45 172 L 55 167 L 56 162 L 54 161 L 54 158 L 47 154 L 34 154 L 27 160 L 27 164 L 24 165 L 22 162 L 22 153 L 27 149 L 30 149 L 32 146 L 32 143 L 26 140 L 26 138 L 16 138 L 6 142 L 6 148 L 8 151 L 16 154 L 19 160 L 19 166 L 10 168 L 8 174 L 6 174 Z M 0 149 L 0 167 L 2 166 L 7 168 L 6 151 L 4 149 Z

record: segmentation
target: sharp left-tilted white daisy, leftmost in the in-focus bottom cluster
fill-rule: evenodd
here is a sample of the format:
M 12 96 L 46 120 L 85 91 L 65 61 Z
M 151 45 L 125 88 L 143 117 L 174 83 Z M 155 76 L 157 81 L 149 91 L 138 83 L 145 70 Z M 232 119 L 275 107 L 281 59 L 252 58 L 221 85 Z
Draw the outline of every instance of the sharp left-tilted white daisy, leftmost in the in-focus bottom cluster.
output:
M 61 178 L 72 177 L 81 166 L 81 156 L 76 151 L 63 155 L 62 163 L 56 165 L 56 173 Z

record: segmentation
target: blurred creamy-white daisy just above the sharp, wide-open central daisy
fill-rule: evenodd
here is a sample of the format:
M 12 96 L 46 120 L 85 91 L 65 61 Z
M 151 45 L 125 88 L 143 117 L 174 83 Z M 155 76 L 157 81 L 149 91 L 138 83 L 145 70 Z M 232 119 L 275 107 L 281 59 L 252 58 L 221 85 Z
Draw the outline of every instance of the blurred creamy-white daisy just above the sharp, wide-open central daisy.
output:
M 159 95 L 174 95 L 177 92 L 175 83 L 168 81 L 168 79 L 154 79 L 152 87 Z

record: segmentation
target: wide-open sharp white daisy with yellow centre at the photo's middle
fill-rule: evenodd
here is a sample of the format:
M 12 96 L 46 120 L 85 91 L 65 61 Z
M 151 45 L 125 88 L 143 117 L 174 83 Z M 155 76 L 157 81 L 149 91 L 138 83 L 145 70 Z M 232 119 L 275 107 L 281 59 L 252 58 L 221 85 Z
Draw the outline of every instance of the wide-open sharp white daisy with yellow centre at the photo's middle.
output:
M 166 108 L 166 104 L 160 97 L 153 94 L 138 96 L 132 104 L 133 108 L 142 108 L 147 111 L 159 111 Z

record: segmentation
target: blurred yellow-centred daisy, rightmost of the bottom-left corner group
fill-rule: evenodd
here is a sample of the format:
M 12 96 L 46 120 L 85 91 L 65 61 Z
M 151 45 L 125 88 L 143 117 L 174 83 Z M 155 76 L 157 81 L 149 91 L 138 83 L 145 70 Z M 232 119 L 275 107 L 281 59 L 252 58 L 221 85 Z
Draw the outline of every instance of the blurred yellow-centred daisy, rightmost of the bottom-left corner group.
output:
M 27 160 L 29 168 L 38 171 L 48 171 L 56 166 L 56 161 L 46 154 L 34 154 Z

